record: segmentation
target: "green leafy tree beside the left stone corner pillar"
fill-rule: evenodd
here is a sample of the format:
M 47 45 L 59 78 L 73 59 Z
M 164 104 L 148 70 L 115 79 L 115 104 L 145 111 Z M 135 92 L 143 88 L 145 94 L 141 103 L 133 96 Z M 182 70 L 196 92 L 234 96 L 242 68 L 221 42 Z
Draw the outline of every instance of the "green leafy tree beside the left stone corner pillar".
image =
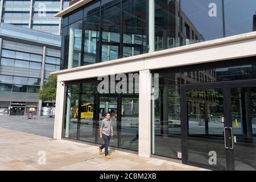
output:
M 38 90 L 39 100 L 52 101 L 56 99 L 57 76 L 50 75 L 49 81 L 43 84 L 42 90 Z

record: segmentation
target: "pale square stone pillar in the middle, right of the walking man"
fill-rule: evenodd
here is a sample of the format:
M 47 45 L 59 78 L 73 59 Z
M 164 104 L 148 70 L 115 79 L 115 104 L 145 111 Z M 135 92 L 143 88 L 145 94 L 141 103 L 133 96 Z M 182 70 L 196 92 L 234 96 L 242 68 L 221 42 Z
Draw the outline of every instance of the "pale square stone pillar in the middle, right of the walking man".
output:
M 151 74 L 139 72 L 139 156 L 151 156 Z

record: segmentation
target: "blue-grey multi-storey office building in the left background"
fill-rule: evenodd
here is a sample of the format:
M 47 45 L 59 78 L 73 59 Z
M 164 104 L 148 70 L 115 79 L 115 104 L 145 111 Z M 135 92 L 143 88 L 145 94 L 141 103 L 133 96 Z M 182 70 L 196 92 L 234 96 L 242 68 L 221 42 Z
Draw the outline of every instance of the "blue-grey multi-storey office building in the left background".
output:
M 55 101 L 39 101 L 37 89 L 60 70 L 61 19 L 69 1 L 0 2 L 0 115 L 55 112 Z

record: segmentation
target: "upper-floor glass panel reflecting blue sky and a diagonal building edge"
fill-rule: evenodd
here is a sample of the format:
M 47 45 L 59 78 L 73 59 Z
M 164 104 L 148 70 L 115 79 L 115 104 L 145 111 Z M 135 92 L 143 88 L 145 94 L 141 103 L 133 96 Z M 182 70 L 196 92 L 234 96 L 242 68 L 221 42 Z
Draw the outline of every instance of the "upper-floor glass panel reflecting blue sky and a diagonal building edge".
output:
M 182 0 L 181 18 L 184 27 L 182 31 L 184 45 L 195 43 L 195 36 L 197 36 L 198 41 L 224 36 L 221 0 Z M 193 38 L 192 30 L 194 32 Z

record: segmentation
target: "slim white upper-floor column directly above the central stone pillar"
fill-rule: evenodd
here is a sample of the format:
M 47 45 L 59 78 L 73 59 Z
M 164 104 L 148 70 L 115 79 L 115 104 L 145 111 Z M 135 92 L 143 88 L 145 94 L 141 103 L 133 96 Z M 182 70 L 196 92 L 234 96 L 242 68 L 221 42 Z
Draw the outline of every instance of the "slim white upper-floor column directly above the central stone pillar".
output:
M 148 52 L 155 51 L 155 0 L 148 0 Z

